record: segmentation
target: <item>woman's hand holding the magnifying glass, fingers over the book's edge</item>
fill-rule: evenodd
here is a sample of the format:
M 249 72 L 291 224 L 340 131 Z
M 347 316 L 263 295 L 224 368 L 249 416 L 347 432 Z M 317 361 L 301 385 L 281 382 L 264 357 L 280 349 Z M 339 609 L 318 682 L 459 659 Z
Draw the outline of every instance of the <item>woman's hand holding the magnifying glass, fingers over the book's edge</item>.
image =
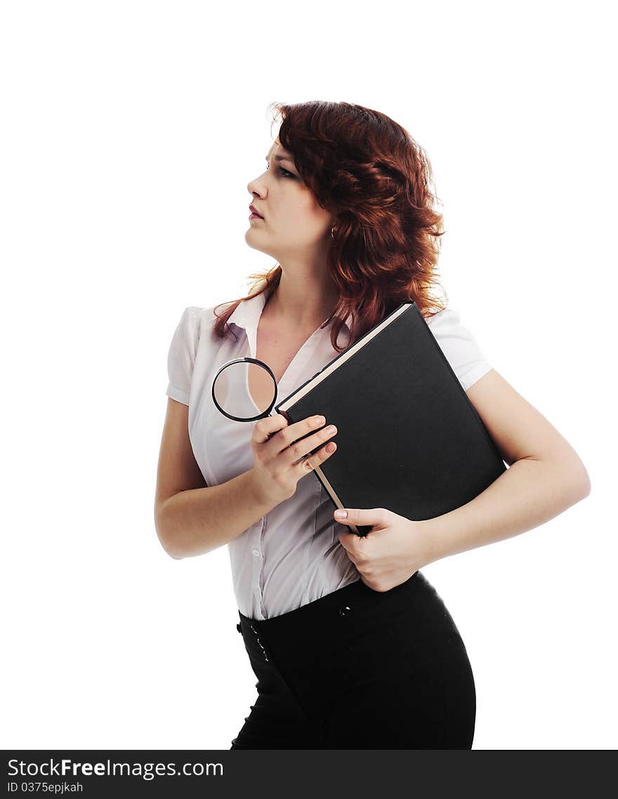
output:
M 300 422 L 289 424 L 281 413 L 260 419 L 253 427 L 251 449 L 253 450 L 253 479 L 258 494 L 268 503 L 279 504 L 293 496 L 296 484 L 315 467 L 333 455 L 326 445 L 335 435 L 327 432 L 324 416 L 308 416 Z M 313 435 L 307 435 L 313 433 Z M 302 436 L 307 436 L 302 438 Z M 300 439 L 300 440 L 299 440 Z M 319 450 L 305 457 L 308 452 Z

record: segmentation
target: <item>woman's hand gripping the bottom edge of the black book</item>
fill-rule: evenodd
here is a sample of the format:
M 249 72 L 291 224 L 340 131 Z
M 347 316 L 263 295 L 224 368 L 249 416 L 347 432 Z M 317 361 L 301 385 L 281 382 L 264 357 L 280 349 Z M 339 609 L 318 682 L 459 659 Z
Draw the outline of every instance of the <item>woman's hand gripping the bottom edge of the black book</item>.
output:
M 367 535 L 341 532 L 339 541 L 357 567 L 361 580 L 374 591 L 388 591 L 433 561 L 430 534 L 424 522 L 413 522 L 383 507 L 345 508 L 340 524 L 373 525 Z

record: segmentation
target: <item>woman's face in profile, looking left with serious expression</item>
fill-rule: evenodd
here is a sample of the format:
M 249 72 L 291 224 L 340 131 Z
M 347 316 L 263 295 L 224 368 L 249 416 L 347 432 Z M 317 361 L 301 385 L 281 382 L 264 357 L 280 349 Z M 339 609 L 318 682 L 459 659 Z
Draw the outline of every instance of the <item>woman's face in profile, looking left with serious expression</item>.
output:
M 333 215 L 317 204 L 278 140 L 266 155 L 265 171 L 247 189 L 253 195 L 251 204 L 264 217 L 249 220 L 249 247 L 281 261 L 316 255 L 330 245 Z

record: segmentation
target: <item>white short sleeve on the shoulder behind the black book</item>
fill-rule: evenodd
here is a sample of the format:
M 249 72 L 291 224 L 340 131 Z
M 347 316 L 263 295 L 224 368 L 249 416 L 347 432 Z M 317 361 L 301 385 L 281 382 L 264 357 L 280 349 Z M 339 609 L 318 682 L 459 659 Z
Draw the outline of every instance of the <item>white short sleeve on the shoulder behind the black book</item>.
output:
M 453 308 L 446 308 L 425 320 L 444 352 L 464 391 L 492 368 L 480 351 L 476 339 L 460 321 Z

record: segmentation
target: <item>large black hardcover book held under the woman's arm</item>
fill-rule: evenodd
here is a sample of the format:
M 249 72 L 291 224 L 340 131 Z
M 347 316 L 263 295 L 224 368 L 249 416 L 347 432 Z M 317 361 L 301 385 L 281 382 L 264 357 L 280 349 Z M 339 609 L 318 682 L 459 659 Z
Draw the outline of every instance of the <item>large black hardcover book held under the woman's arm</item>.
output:
M 313 471 L 337 507 L 385 507 L 407 519 L 433 519 L 474 499 L 506 470 L 413 302 L 275 410 L 289 423 L 321 414 L 336 425 L 337 450 Z M 372 529 L 347 527 L 357 535 Z

